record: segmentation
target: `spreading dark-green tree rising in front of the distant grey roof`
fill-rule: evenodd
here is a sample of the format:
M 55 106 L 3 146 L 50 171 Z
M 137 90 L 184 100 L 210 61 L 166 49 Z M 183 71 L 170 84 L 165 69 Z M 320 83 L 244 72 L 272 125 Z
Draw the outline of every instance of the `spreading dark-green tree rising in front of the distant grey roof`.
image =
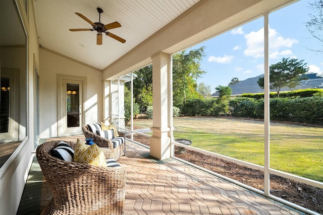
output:
M 299 82 L 306 79 L 303 75 L 307 73 L 307 63 L 304 60 L 294 58 L 283 58 L 282 61 L 272 64 L 269 68 L 270 89 L 275 89 L 277 97 L 282 88 L 294 88 Z M 264 87 L 264 77 L 260 77 L 257 81 L 259 87 Z

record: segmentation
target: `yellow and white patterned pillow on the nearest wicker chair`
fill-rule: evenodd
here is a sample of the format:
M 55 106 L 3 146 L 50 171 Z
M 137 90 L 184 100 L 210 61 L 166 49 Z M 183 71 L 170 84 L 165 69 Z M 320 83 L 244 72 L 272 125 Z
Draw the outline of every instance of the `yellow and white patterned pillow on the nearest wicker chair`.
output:
M 102 150 L 96 145 L 83 144 L 79 139 L 74 149 L 74 161 L 81 164 L 91 164 L 106 167 L 105 156 Z

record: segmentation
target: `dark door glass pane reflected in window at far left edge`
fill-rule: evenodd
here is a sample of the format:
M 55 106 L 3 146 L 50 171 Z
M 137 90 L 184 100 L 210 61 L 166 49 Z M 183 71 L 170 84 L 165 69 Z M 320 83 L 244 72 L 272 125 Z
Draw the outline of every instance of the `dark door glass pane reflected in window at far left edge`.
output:
M 10 79 L 1 78 L 0 133 L 9 132 Z

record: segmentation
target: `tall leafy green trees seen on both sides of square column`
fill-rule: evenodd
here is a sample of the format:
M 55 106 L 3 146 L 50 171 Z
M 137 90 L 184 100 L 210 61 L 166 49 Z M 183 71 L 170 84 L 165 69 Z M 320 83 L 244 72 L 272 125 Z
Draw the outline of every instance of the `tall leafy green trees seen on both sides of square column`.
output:
M 184 106 L 186 99 L 200 98 L 196 91 L 197 78 L 205 71 L 200 69 L 200 61 L 205 47 L 182 51 L 173 55 L 173 104 L 176 107 Z M 140 104 L 141 110 L 152 105 L 152 65 L 148 65 L 134 72 L 137 76 L 133 81 L 133 94 Z M 126 83 L 130 90 L 130 83 Z

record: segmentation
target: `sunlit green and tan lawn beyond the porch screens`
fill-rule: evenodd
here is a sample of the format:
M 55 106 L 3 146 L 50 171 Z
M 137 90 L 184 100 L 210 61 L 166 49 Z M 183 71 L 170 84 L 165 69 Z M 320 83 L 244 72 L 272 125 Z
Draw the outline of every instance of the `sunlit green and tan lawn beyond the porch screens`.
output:
M 135 121 L 151 127 L 152 120 Z M 192 140 L 192 147 L 264 165 L 264 124 L 261 121 L 176 117 L 175 138 Z M 271 168 L 323 182 L 323 128 L 271 123 Z

